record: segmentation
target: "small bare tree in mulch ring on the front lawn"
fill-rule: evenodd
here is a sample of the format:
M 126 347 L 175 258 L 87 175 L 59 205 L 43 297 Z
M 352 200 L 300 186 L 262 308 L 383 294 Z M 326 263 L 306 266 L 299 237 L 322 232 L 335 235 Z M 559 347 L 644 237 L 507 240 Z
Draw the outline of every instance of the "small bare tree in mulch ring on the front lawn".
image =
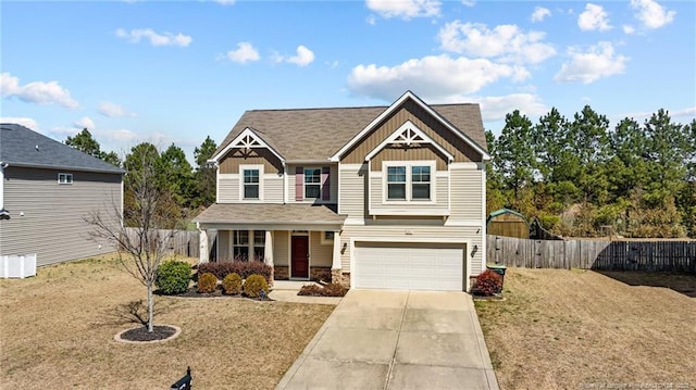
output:
M 128 202 L 128 222 L 121 204 L 112 202 L 109 212 L 95 211 L 85 217 L 92 226 L 89 236 L 98 242 L 107 241 L 117 250 L 119 262 L 148 290 L 148 331 L 153 330 L 153 297 L 157 268 L 165 257 L 175 226 L 172 196 L 159 185 L 157 155 L 140 153 L 137 169 L 129 169 L 124 179 L 124 194 Z

